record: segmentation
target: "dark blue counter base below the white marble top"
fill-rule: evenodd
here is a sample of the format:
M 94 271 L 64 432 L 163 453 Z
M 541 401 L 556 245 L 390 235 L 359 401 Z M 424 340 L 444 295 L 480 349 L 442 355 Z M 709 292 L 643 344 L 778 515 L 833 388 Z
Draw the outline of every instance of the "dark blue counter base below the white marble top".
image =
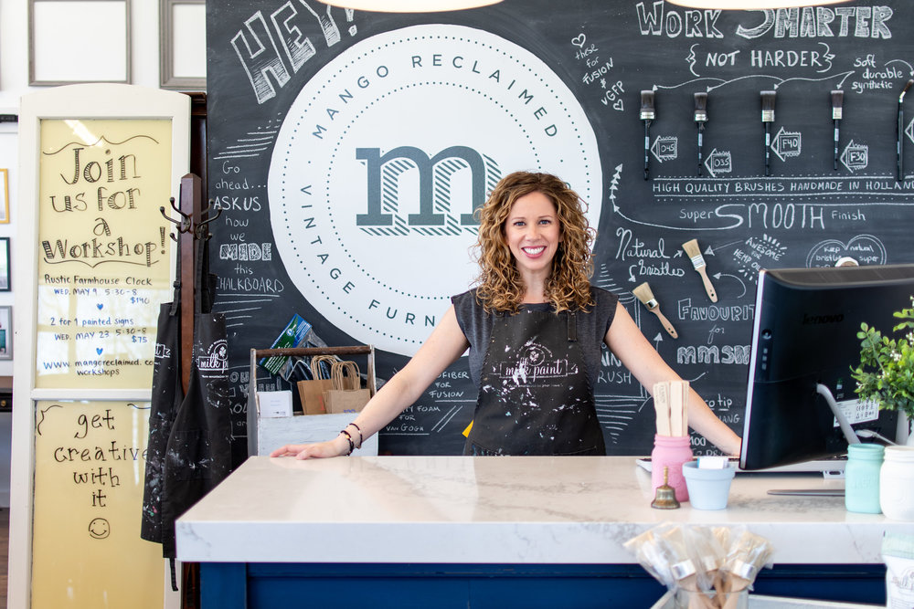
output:
M 370 606 L 373 609 L 650 607 L 665 588 L 640 565 L 281 564 L 200 565 L 202 609 Z M 784 565 L 755 592 L 886 604 L 884 565 Z

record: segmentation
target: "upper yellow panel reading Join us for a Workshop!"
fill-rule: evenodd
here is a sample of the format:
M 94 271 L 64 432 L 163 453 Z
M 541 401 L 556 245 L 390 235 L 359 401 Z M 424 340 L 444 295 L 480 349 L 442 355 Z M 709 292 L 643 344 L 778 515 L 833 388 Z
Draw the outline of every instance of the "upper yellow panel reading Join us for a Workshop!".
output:
M 36 387 L 148 388 L 171 299 L 168 120 L 43 120 Z

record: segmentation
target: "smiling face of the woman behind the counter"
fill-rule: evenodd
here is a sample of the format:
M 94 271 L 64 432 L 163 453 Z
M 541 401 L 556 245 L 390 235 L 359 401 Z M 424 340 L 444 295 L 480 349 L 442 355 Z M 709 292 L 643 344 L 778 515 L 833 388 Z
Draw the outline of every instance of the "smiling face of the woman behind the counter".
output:
M 504 227 L 505 243 L 527 288 L 546 280 L 562 241 L 556 206 L 539 192 L 518 197 Z

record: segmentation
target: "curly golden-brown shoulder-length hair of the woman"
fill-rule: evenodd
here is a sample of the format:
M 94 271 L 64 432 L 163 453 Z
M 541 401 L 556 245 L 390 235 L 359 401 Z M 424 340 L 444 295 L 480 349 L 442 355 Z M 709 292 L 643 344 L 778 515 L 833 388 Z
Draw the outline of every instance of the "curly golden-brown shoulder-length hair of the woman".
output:
M 489 312 L 515 313 L 523 301 L 526 287 L 505 242 L 505 222 L 515 201 L 530 193 L 545 194 L 556 206 L 562 236 L 552 259 L 544 296 L 556 312 L 587 310 L 594 305 L 590 294 L 593 272 L 590 246 L 596 232 L 588 226 L 578 194 L 549 173 L 505 175 L 477 210 L 479 239 L 475 247 L 481 269 L 476 298 Z

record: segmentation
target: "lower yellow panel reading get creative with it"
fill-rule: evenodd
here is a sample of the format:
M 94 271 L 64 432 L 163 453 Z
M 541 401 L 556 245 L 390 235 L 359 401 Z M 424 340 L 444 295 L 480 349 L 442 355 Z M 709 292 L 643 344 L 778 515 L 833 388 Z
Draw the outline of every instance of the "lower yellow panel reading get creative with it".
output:
M 148 402 L 36 403 L 33 607 L 162 607 L 162 546 L 140 539 L 148 419 Z

